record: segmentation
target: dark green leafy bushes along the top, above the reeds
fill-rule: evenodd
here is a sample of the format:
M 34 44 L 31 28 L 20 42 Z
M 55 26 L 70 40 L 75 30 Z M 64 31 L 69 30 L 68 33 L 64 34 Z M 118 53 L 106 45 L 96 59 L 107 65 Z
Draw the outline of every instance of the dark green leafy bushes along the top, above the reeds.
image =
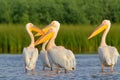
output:
M 120 22 L 120 0 L 0 0 L 0 23 L 98 24 Z

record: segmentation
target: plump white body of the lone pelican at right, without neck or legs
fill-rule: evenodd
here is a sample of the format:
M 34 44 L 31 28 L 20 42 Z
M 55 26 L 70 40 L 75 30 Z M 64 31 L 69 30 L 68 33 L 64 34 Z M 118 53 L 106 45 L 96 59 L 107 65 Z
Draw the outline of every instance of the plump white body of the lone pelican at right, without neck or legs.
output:
M 98 54 L 101 63 L 106 66 L 114 65 L 117 63 L 119 53 L 115 47 L 101 46 L 98 48 Z

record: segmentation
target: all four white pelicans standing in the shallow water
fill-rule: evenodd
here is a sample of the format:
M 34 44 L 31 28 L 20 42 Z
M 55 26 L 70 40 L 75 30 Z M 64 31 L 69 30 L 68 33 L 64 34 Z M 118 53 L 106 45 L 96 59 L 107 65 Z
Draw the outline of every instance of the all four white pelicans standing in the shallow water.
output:
M 104 31 L 101 43 L 98 48 L 98 55 L 101 62 L 101 71 L 104 72 L 104 67 L 110 67 L 110 71 L 113 72 L 114 65 L 117 63 L 119 53 L 113 46 L 106 44 L 106 36 L 110 30 L 111 22 L 109 20 L 103 20 L 102 24 L 98 26 L 88 39 L 93 38 L 100 32 Z M 52 21 L 48 26 L 43 29 L 35 27 L 32 23 L 26 25 L 26 30 L 31 38 L 31 44 L 23 49 L 25 59 L 25 71 L 32 70 L 35 72 L 35 66 L 38 59 L 38 49 L 35 46 L 42 44 L 40 50 L 40 59 L 43 66 L 51 68 L 54 64 L 56 66 L 56 73 L 59 73 L 60 68 L 64 69 L 64 72 L 72 71 L 76 69 L 76 59 L 73 52 L 66 49 L 64 46 L 57 46 L 55 39 L 60 29 L 60 23 L 58 21 Z M 40 36 L 34 41 L 34 35 L 32 31 L 37 32 L 35 36 Z

